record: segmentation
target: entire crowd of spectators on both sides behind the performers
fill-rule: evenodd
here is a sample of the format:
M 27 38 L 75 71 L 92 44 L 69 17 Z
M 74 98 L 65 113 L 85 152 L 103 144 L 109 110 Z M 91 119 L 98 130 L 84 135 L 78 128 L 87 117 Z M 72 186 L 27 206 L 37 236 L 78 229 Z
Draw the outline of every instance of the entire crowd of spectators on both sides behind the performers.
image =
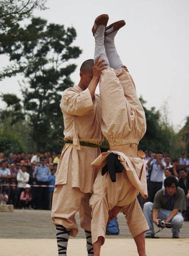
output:
M 168 176 L 178 179 L 179 187 L 185 191 L 189 220 L 189 154 L 182 152 L 179 159 L 171 159 L 169 153 L 145 151 L 148 201 L 153 203 L 156 192 L 163 188 Z M 15 208 L 51 209 L 60 154 L 37 152 L 36 154 L 0 153 L 0 199 L 1 204 L 13 204 Z M 39 185 L 35 187 L 33 185 Z M 41 187 L 40 185 L 51 187 Z M 138 198 L 140 200 L 140 198 Z M 145 203 L 145 202 L 143 202 Z

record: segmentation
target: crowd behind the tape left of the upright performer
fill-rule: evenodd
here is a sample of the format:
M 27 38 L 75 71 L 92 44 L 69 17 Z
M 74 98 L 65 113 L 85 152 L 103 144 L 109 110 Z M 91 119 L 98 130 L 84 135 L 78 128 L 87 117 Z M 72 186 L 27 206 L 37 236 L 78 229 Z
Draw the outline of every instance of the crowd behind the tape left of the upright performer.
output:
M 0 152 L 0 204 L 51 209 L 59 158 L 56 152 L 10 153 L 8 157 Z

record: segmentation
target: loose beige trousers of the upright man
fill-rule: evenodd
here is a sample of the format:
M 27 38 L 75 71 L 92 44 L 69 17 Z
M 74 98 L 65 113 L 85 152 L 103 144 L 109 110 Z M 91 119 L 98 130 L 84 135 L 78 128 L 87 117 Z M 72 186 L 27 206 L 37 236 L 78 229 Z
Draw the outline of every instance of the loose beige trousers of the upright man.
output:
M 69 170 L 67 183 L 56 185 L 53 193 L 51 211 L 53 224 L 71 229 L 70 235 L 75 237 L 78 234 L 75 215 L 79 211 L 81 228 L 91 231 L 90 197 L 90 193 L 83 193 L 78 187 L 71 187 L 71 174 Z

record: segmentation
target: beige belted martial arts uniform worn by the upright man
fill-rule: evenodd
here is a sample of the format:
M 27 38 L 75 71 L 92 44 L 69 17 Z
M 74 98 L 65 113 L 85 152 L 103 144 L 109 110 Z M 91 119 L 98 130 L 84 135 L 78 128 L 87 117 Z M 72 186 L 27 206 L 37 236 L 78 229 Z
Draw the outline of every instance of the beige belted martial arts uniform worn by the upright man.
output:
M 91 162 L 100 155 L 100 149 L 82 146 L 80 142 L 102 143 L 100 96 L 95 94 L 92 100 L 89 89 L 82 91 L 74 86 L 64 91 L 60 107 L 64 116 L 64 140 L 73 140 L 73 144 L 64 146 L 58 161 L 51 218 L 55 225 L 71 229 L 70 235 L 76 236 L 77 211 L 81 227 L 91 230 L 89 198 L 98 174 Z

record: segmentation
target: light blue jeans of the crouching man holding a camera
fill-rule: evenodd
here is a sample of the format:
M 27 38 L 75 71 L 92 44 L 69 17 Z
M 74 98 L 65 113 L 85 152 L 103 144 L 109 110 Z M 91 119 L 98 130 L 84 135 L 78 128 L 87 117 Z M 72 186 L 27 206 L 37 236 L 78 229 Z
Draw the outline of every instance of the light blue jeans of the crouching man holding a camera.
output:
M 151 234 L 151 236 L 154 236 L 152 210 L 153 210 L 153 203 L 147 202 L 144 204 L 143 213 L 149 225 L 149 230 L 146 232 L 146 234 Z M 170 214 L 171 214 L 171 211 L 168 211 L 162 208 L 158 210 L 159 219 L 167 220 Z M 179 236 L 180 229 L 183 225 L 183 222 L 184 222 L 184 218 L 182 217 L 182 214 L 180 212 L 178 212 L 172 218 L 171 220 L 171 223 L 173 224 L 172 233 L 174 236 Z

